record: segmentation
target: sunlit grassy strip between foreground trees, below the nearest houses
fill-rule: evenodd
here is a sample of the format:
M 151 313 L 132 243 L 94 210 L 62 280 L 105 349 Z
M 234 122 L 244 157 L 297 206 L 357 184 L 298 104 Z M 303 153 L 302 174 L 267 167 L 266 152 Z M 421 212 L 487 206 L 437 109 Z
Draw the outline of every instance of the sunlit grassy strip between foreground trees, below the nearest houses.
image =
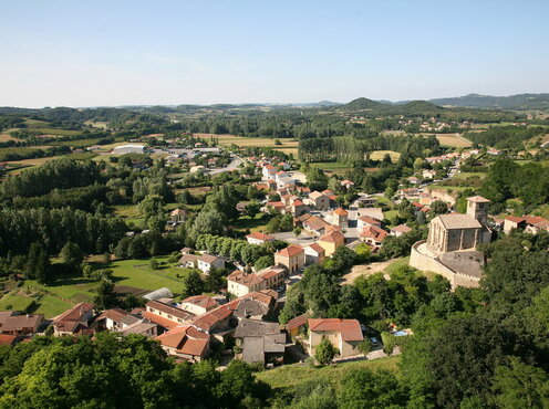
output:
M 367 368 L 372 370 L 386 369 L 398 375 L 398 356 L 381 358 L 375 360 L 356 360 L 341 364 L 333 364 L 324 367 L 311 367 L 308 364 L 284 365 L 271 370 L 257 373 L 256 377 L 269 384 L 272 388 L 290 388 L 297 387 L 310 381 L 325 379 L 330 381 L 334 388 L 349 370 L 354 368 Z

